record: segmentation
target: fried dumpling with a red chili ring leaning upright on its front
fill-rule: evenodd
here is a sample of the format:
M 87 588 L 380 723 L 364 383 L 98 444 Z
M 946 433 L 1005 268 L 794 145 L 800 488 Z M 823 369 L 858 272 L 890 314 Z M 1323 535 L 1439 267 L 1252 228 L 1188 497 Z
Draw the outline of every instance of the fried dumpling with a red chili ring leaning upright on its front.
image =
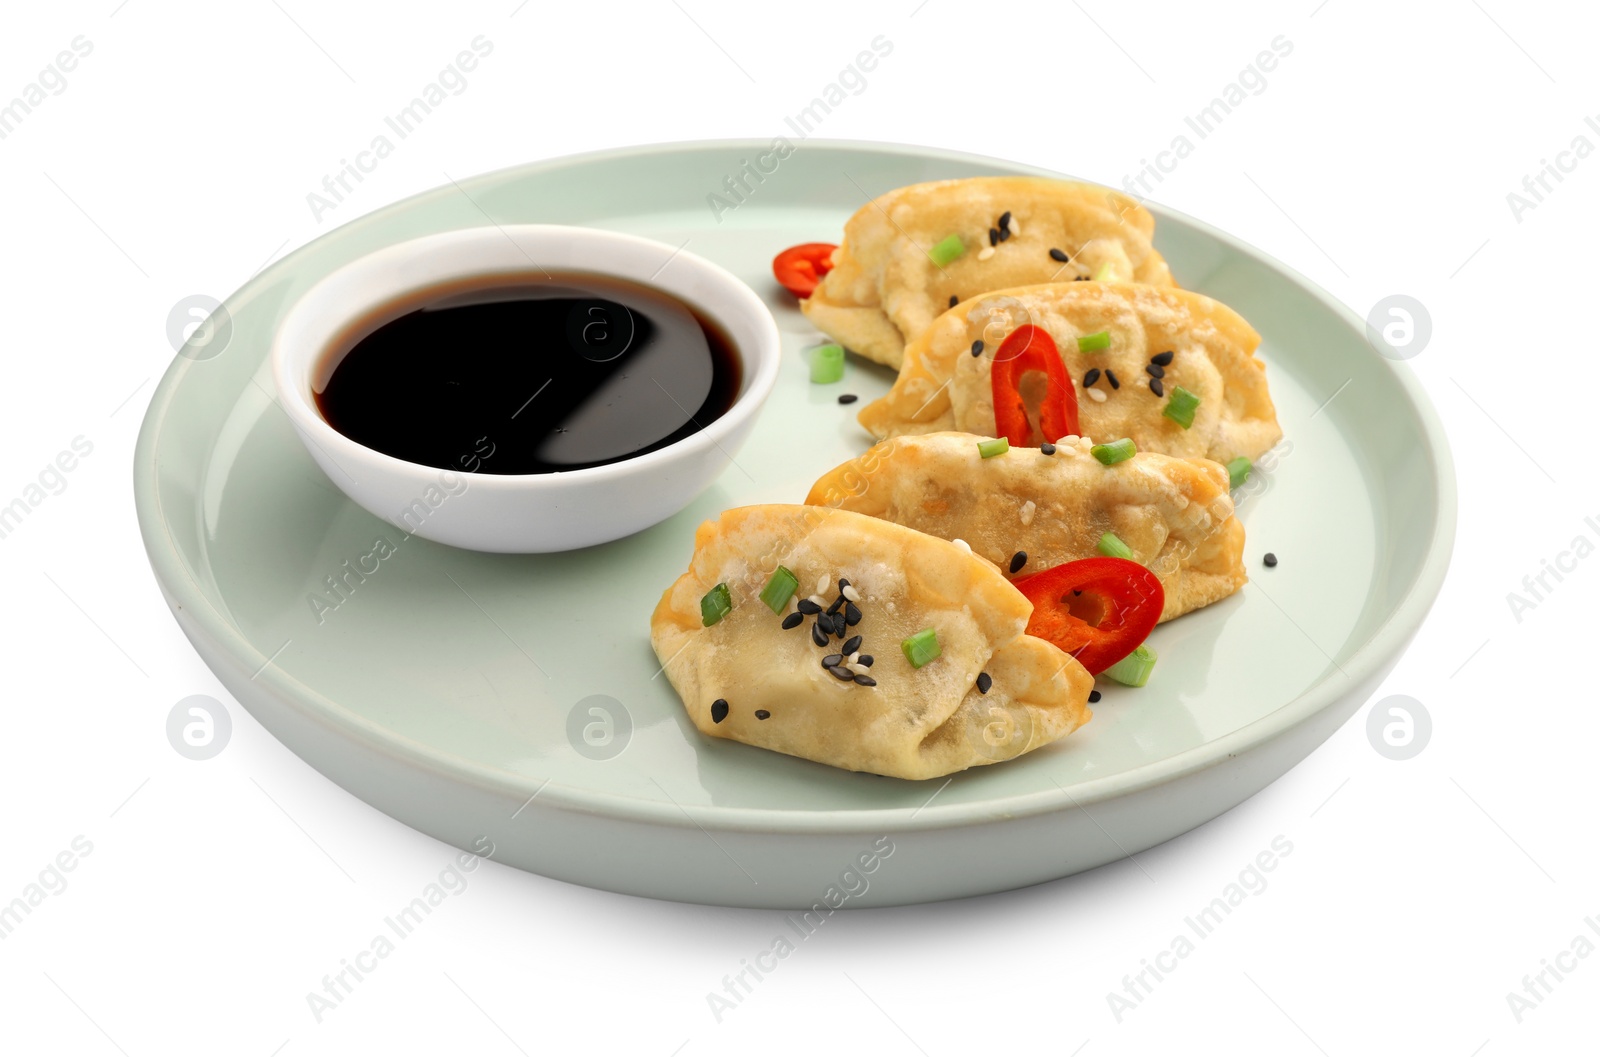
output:
M 1256 459 L 1283 437 L 1250 323 L 1205 294 L 1138 283 L 1048 283 L 962 302 L 906 347 L 894 387 L 859 422 L 878 440 L 938 430 L 994 437 L 994 357 L 1029 323 L 1050 334 L 1067 366 L 1083 437 L 1130 437 L 1139 451 L 1219 462 Z M 1101 333 L 1109 347 L 1078 350 L 1078 337 Z M 1034 422 L 1030 377 L 1042 376 L 1022 376 Z M 1165 414 L 1178 387 L 1200 400 L 1187 427 Z

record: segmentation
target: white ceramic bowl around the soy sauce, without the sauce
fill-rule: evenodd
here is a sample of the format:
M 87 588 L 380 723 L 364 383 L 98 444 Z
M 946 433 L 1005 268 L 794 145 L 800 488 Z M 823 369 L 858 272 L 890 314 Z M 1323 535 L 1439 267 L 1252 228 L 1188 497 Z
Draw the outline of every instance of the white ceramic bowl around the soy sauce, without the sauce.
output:
M 536 264 L 534 264 L 536 262 Z M 339 433 L 314 389 L 338 365 L 349 326 L 437 286 L 539 269 L 654 286 L 722 325 L 739 353 L 733 406 L 706 429 L 646 454 L 557 473 L 462 473 L 386 456 Z M 398 312 L 397 312 L 398 313 Z M 682 510 L 733 461 L 778 381 L 779 339 L 755 293 L 715 264 L 648 238 L 589 227 L 475 227 L 397 243 L 328 275 L 290 309 L 272 341 L 278 398 L 312 459 L 346 496 L 426 539 L 491 552 L 554 552 L 629 536 Z

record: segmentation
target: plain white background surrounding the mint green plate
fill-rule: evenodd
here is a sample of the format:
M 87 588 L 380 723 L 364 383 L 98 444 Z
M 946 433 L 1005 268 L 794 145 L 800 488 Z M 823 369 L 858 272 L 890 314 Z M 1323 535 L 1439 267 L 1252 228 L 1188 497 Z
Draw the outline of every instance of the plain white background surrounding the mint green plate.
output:
M 1584 523 L 1600 523 L 1600 160 L 1574 155 L 1520 216 L 1507 201 L 1574 138 L 1600 146 L 1584 125 L 1600 114 L 1595 24 L 1578 5 L 1510 0 L 917 2 L 8 11 L 0 99 L 74 37 L 93 53 L 0 141 L 0 502 L 72 438 L 93 454 L 0 539 L 0 902 L 75 836 L 93 852 L 0 940 L 0 1049 L 1594 1052 L 1600 956 L 1520 1022 L 1506 996 L 1600 916 L 1586 604 L 1600 560 L 1579 561 L 1520 620 L 1507 603 L 1576 536 L 1600 539 Z M 494 51 L 469 88 L 314 219 L 307 192 L 480 34 Z M 166 612 L 130 462 L 173 357 L 168 310 L 222 297 L 446 171 L 779 134 L 878 34 L 893 54 L 819 134 L 1114 185 L 1274 37 L 1293 43 L 1266 90 L 1152 197 L 1290 262 L 1360 315 L 1395 293 L 1427 305 L 1432 339 L 1411 365 L 1454 445 L 1461 532 L 1432 620 L 1374 700 L 1421 700 L 1430 742 L 1386 760 L 1363 707 L 1280 782 L 1138 862 L 840 915 L 720 1023 L 706 993 L 770 945 L 776 913 L 488 864 L 318 1023 L 306 993 L 453 852 L 278 745 Z M 232 712 L 230 744 L 203 763 L 165 736 L 190 694 Z M 1278 835 L 1293 854 L 1269 887 L 1118 1023 L 1106 995 Z

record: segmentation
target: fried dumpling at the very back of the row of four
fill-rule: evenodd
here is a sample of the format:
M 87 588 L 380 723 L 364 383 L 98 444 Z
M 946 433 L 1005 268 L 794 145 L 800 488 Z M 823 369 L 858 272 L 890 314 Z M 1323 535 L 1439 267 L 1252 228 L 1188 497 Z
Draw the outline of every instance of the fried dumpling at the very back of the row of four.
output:
M 1144 206 L 1093 184 L 1042 176 L 912 184 L 850 217 L 834 270 L 800 309 L 851 352 L 898 368 L 904 347 L 952 297 L 1091 277 L 1171 285 L 1150 246 L 1154 230 Z M 965 251 L 941 267 L 928 249 L 952 235 Z

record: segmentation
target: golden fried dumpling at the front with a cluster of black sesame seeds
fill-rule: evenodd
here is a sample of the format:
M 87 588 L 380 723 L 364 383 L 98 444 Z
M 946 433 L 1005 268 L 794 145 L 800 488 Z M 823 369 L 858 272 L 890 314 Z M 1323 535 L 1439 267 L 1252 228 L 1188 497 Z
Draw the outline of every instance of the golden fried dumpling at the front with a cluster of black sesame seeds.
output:
M 787 582 L 779 568 L 798 587 L 774 612 L 763 590 Z M 650 641 L 702 734 L 931 779 L 1088 721 L 1093 676 L 1022 633 L 1032 609 L 994 566 L 934 536 L 850 510 L 739 507 L 699 526 Z M 938 656 L 914 667 L 902 641 L 926 628 Z

